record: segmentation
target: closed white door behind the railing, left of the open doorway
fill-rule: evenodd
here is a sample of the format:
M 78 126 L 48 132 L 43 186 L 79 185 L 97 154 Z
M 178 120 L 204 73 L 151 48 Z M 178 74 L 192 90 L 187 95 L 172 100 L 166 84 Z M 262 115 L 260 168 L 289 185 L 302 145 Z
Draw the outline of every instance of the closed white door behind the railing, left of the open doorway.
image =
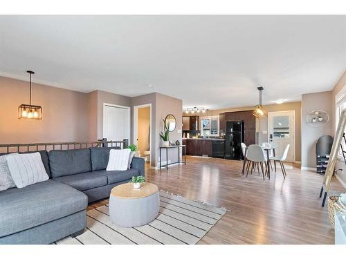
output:
M 103 137 L 107 140 L 124 140 L 130 137 L 130 108 L 104 104 Z

